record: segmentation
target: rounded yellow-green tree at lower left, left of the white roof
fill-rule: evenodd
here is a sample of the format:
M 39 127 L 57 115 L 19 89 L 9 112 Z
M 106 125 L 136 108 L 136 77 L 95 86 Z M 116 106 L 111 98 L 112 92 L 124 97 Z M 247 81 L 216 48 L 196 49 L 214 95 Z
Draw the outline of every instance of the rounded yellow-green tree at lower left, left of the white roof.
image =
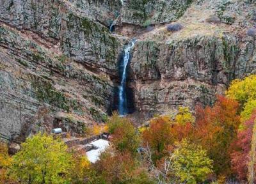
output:
M 12 175 L 21 183 L 65 183 L 72 156 L 67 146 L 51 135 L 36 134 L 13 156 Z

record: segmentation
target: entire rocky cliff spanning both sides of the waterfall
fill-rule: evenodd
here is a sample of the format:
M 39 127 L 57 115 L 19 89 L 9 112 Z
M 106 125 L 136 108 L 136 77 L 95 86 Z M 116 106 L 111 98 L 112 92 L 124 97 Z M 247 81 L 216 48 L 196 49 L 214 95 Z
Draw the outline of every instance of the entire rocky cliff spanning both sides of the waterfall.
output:
M 246 35 L 255 10 L 253 0 L 0 1 L 0 133 L 84 134 L 105 121 L 134 36 L 128 85 L 139 114 L 212 104 L 232 79 L 255 73 Z M 173 21 L 183 29 L 166 31 Z

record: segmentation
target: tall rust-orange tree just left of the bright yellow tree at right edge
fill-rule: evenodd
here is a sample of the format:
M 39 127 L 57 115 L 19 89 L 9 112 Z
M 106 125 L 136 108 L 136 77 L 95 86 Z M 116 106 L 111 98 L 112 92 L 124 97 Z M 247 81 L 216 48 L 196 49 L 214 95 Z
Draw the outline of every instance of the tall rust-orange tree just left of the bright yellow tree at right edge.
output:
M 230 173 L 228 149 L 234 141 L 240 125 L 237 115 L 239 104 L 235 100 L 218 96 L 213 107 L 197 107 L 195 132 L 192 139 L 207 150 L 214 160 L 213 168 L 217 174 Z

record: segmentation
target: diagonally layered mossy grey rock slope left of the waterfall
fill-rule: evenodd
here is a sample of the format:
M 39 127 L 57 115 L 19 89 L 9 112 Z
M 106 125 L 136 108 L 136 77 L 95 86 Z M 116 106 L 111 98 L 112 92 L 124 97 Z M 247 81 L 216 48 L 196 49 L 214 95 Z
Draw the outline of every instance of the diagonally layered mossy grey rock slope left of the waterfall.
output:
M 1 1 L 0 130 L 10 139 L 52 127 L 83 134 L 106 119 L 122 42 L 98 20 L 120 1 L 86 1 L 98 17 L 79 2 Z

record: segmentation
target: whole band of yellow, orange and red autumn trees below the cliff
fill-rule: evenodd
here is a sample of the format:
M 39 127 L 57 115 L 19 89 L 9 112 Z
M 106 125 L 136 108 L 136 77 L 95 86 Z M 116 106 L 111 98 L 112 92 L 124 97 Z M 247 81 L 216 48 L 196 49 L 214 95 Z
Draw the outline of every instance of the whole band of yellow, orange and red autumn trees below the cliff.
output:
M 60 139 L 36 134 L 10 157 L 1 144 L 2 183 L 241 183 L 256 181 L 256 76 L 235 80 L 227 96 L 195 114 L 158 115 L 138 130 L 114 113 L 111 146 L 95 164 Z M 248 111 L 250 104 L 250 111 Z M 107 128 L 104 129 L 107 131 Z

